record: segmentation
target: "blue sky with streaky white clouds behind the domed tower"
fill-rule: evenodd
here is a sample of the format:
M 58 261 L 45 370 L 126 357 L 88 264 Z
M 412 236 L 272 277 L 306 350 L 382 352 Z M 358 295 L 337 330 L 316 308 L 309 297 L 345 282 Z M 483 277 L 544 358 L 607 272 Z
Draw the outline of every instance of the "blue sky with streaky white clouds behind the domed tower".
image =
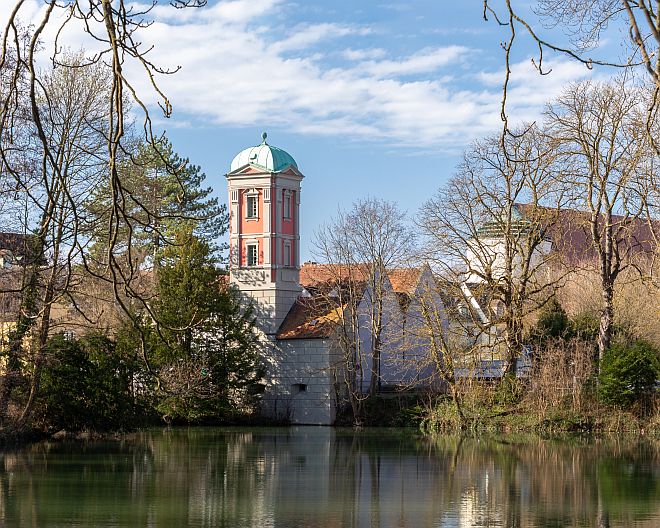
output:
M 155 46 L 151 60 L 181 67 L 159 80 L 174 108 L 166 120 L 127 65 L 156 125 L 201 165 L 223 202 L 232 158 L 267 131 L 306 176 L 303 260 L 313 258 L 314 231 L 357 198 L 417 214 L 470 142 L 501 127 L 506 33 L 483 21 L 478 0 L 209 0 L 194 10 L 162 3 L 152 16 L 140 35 Z M 94 46 L 75 28 L 67 38 L 74 48 Z M 590 75 L 550 56 L 553 72 L 541 77 L 533 55 L 521 39 L 510 91 L 518 120 L 538 118 L 562 86 Z

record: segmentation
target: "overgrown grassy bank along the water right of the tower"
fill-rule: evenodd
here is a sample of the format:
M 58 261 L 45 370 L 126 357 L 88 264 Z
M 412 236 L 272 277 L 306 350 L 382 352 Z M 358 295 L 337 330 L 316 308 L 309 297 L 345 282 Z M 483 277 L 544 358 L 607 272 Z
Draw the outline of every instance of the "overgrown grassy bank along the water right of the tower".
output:
M 415 427 L 427 433 L 633 433 L 660 438 L 660 398 L 632 406 L 607 405 L 595 395 L 557 398 L 553 404 L 516 387 L 472 386 L 461 395 L 463 416 L 447 395 L 392 393 L 364 402 L 369 427 Z M 336 425 L 353 425 L 350 409 Z

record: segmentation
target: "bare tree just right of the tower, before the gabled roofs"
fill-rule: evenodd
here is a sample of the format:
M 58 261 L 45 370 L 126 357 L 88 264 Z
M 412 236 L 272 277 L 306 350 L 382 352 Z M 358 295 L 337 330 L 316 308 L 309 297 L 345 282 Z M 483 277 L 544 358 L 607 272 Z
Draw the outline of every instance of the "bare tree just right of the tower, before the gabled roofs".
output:
M 348 212 L 340 211 L 316 233 L 315 254 L 329 264 L 328 279 L 333 285 L 328 301 L 342 307 L 338 344 L 356 419 L 361 415 L 365 385 L 370 395 L 380 387 L 387 327 L 397 305 L 387 271 L 408 262 L 413 243 L 399 208 L 374 198 L 357 201 Z

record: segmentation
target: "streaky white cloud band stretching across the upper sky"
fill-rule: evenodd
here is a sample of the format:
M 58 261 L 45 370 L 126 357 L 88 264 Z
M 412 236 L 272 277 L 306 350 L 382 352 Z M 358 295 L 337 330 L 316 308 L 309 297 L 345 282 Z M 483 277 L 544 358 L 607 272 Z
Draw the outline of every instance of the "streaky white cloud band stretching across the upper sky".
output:
M 42 9 L 38 0 L 26 6 L 30 16 Z M 427 47 L 397 56 L 382 47 L 382 39 L 374 46 L 366 26 L 328 21 L 288 29 L 287 8 L 282 0 L 234 0 L 191 10 L 159 4 L 153 12 L 157 22 L 139 38 L 145 48 L 154 45 L 149 58 L 155 64 L 181 66 L 176 75 L 158 78 L 175 119 L 282 126 L 418 150 L 462 148 L 500 126 L 503 75 L 482 72 L 466 80 L 478 50 Z M 65 36 L 68 42 L 89 42 L 80 27 Z M 319 44 L 329 41 L 348 63 L 337 66 L 328 62 L 333 54 L 319 53 Z M 514 65 L 512 115 L 535 119 L 561 86 L 585 75 L 568 60 L 548 66 L 553 73 L 541 77 L 529 62 Z M 139 65 L 127 62 L 125 68 L 155 108 L 157 96 Z

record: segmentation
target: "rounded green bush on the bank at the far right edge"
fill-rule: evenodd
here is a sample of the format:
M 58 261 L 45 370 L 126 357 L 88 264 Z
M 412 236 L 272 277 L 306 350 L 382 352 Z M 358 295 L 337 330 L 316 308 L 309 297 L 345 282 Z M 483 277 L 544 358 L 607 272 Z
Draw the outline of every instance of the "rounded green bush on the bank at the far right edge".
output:
M 660 378 L 660 351 L 638 340 L 616 343 L 600 365 L 598 394 L 605 403 L 629 406 L 654 390 Z

